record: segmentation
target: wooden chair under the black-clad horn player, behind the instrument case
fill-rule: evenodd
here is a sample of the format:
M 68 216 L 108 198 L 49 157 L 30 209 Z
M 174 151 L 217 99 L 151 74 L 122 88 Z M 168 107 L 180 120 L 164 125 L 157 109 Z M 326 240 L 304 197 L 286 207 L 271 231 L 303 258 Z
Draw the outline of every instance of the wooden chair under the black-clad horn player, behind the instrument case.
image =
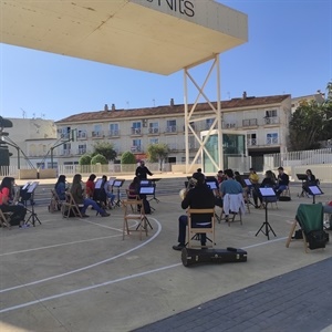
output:
M 214 248 L 215 246 L 215 209 L 191 209 L 187 210 L 188 215 L 188 235 L 187 235 L 187 248 L 201 248 L 201 245 L 193 243 L 199 239 L 200 234 L 207 234 L 207 241 L 204 248 Z M 191 217 L 193 215 L 210 215 L 210 220 L 196 222 L 193 227 Z M 211 238 L 208 237 L 210 235 Z

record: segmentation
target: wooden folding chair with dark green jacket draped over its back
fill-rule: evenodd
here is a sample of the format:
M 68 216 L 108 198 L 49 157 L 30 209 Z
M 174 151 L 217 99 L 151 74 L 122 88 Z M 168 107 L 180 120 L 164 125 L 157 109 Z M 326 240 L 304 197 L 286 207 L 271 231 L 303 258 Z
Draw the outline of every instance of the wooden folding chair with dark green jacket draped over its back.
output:
M 297 225 L 299 224 L 302 230 L 302 238 L 304 243 L 304 251 L 308 252 L 308 237 L 307 235 L 311 230 L 323 230 L 323 206 L 322 204 L 300 204 L 298 207 L 295 219 L 291 226 L 286 247 L 292 240 L 292 236 L 295 231 Z

